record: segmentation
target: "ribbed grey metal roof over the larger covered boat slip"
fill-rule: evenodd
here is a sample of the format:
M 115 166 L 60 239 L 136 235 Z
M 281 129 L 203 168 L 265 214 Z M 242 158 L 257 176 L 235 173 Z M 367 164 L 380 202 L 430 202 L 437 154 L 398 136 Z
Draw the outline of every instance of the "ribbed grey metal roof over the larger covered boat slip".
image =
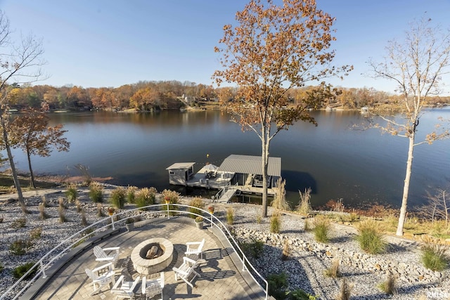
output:
M 224 159 L 219 171 L 262 175 L 262 159 L 252 155 L 230 155 Z M 281 157 L 269 157 L 267 175 L 281 177 Z

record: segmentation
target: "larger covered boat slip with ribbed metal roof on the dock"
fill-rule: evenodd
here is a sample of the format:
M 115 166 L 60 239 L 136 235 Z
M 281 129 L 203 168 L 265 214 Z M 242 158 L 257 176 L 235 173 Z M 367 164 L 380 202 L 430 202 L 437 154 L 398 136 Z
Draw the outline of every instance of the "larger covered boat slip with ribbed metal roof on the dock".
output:
M 262 187 L 261 156 L 233 154 L 224 159 L 219 170 L 235 173 L 235 180 L 238 185 Z M 273 188 L 278 178 L 281 178 L 281 157 L 269 157 L 267 176 L 269 176 L 269 188 Z

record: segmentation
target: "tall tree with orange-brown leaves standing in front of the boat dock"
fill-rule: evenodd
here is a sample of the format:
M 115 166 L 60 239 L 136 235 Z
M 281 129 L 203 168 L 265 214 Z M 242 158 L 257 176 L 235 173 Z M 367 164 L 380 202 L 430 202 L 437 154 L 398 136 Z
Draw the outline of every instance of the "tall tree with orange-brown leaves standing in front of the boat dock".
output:
M 238 93 L 227 102 L 229 112 L 243 129 L 255 131 L 262 142 L 262 216 L 267 216 L 267 162 L 269 145 L 282 129 L 297 120 L 315 124 L 308 107 L 321 99 L 304 99 L 289 106 L 287 92 L 307 81 L 345 73 L 351 67 L 333 67 L 334 19 L 316 8 L 314 0 L 252 0 L 236 13 L 238 25 L 224 26 L 221 53 L 223 70 L 214 72 L 220 86 L 237 84 Z M 323 84 L 323 83 L 322 83 Z M 325 89 L 324 91 L 327 91 Z

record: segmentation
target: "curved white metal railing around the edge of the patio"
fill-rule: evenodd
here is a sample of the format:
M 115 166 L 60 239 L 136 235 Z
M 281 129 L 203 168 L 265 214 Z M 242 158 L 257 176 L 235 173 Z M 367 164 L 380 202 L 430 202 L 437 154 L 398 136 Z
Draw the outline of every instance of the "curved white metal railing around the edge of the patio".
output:
M 245 256 L 242 249 L 240 249 L 238 242 L 236 242 L 233 235 L 231 235 L 230 231 L 228 230 L 228 228 L 226 228 L 224 223 L 222 223 L 216 216 L 214 216 L 214 214 L 211 214 L 209 211 L 206 211 L 204 209 L 199 209 L 198 207 L 191 207 L 191 206 L 185 205 L 185 204 L 167 203 L 167 204 L 153 204 L 153 205 L 149 205 L 147 207 L 139 207 L 136 209 L 129 209 L 127 211 L 121 211 L 119 214 L 114 214 L 112 216 L 108 216 L 105 219 L 97 221 L 96 223 L 93 223 L 90 226 L 87 226 L 86 228 L 83 228 L 82 230 L 77 231 L 77 233 L 70 235 L 70 237 L 68 237 L 67 239 L 60 242 L 56 247 L 53 247 L 53 249 L 51 249 L 44 256 L 42 256 L 41 259 L 39 259 L 39 261 L 37 261 L 37 263 L 34 263 L 34 265 L 29 270 L 27 270 L 27 273 L 25 273 L 20 279 L 18 279 L 18 281 L 16 281 L 14 283 L 14 285 L 9 287 L 8 290 L 6 290 L 6 292 L 4 292 L 4 294 L 2 294 L 0 296 L 0 300 L 6 299 L 6 297 L 9 294 L 11 294 L 11 292 L 15 289 L 15 287 L 20 285 L 20 283 L 23 282 L 25 280 L 25 278 L 27 278 L 30 274 L 32 274 L 33 272 L 36 272 L 34 277 L 27 282 L 25 287 L 20 289 L 20 292 L 18 292 L 17 294 L 15 294 L 15 296 L 13 296 L 13 298 L 11 298 L 12 300 L 18 299 L 18 297 L 20 295 L 22 295 L 39 277 L 46 278 L 47 277 L 46 270 L 49 270 L 49 268 L 51 268 L 51 266 L 53 266 L 53 263 L 55 263 L 58 259 L 61 259 L 65 254 L 68 254 L 68 252 L 70 252 L 70 250 L 75 248 L 78 244 L 81 244 L 89 237 L 94 237 L 94 235 L 96 233 L 101 233 L 105 230 L 108 230 L 109 228 L 112 228 L 113 230 L 115 230 L 116 225 L 122 225 L 122 223 L 124 223 L 125 220 L 134 217 L 134 216 L 130 215 L 130 216 L 125 216 L 124 219 L 120 219 L 121 216 L 129 214 L 132 211 L 142 211 L 143 209 L 152 209 L 152 208 L 156 209 L 157 207 L 162 207 L 162 209 L 164 209 L 164 210 L 161 209 L 161 210 L 153 210 L 153 211 L 152 210 L 143 211 L 141 216 L 145 215 L 145 214 L 161 214 L 162 213 L 162 214 L 167 214 L 167 219 L 170 219 L 171 213 L 173 213 L 173 214 L 183 213 L 183 214 L 192 214 L 195 216 L 202 216 L 204 219 L 207 219 L 208 221 L 210 221 L 211 226 L 215 226 L 218 230 L 220 230 L 220 232 L 224 235 L 224 237 L 226 237 L 227 240 L 229 240 L 231 247 L 233 247 L 234 252 L 236 252 L 236 254 L 238 254 L 238 258 L 240 259 L 240 262 L 242 263 L 243 272 L 247 271 L 248 274 L 250 274 L 250 276 L 252 277 L 253 280 L 255 280 L 257 285 L 259 285 L 259 287 L 261 287 L 264 290 L 264 292 L 266 294 L 265 299 L 266 300 L 268 299 L 269 283 L 262 277 L 261 274 L 259 274 L 259 272 L 255 269 L 255 267 L 252 266 L 252 263 L 250 263 L 250 261 L 247 259 L 247 256 Z M 179 210 L 179 209 L 173 209 L 175 207 L 184 207 L 187 210 L 183 211 L 183 210 Z M 188 209 L 191 209 L 191 208 L 197 209 L 198 211 L 202 211 L 203 213 L 206 214 L 206 216 L 200 215 L 200 214 L 195 214 L 191 211 L 188 211 Z M 102 223 L 105 223 L 105 225 L 102 225 Z M 77 236 L 79 236 L 79 237 L 74 241 L 75 237 L 77 237 Z M 57 249 L 60 249 L 60 248 L 63 248 L 63 249 L 60 250 L 59 252 L 57 252 Z M 52 256 L 52 254 L 53 254 L 53 256 Z M 249 271 L 249 267 L 253 272 L 255 272 L 255 274 L 257 274 L 257 276 L 262 280 L 262 282 L 265 283 L 265 285 L 266 285 L 265 288 L 259 284 L 258 280 L 255 278 L 255 276 L 252 274 L 252 272 Z

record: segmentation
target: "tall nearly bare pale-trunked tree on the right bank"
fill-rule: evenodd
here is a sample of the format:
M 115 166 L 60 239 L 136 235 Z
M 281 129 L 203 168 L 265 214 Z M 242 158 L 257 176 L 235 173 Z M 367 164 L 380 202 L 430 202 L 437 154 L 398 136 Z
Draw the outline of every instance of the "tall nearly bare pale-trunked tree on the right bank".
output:
M 431 19 L 423 18 L 411 23 L 404 41 L 389 42 L 386 47 L 387 57 L 383 63 L 369 62 L 375 77 L 393 80 L 403 98 L 399 115 L 378 114 L 385 120 L 385 124 L 373 124 L 384 132 L 408 138 L 409 141 L 397 235 L 403 235 L 406 220 L 414 147 L 432 143 L 449 134 L 444 130 L 435 131 L 429 133 L 424 141 L 416 141 L 423 105 L 427 103 L 428 96 L 439 94 L 441 77 L 449 72 L 450 32 L 431 27 L 430 22 Z

